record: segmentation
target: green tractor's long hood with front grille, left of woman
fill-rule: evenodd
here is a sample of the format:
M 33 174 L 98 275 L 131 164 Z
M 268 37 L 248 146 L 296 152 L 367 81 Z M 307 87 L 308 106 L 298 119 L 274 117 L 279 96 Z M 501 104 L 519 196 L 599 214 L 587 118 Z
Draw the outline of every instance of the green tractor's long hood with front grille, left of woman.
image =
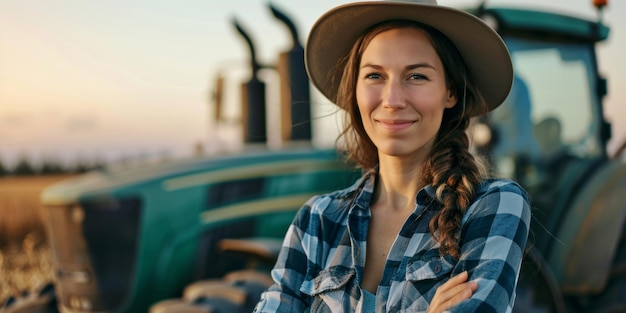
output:
M 250 259 L 226 252 L 224 239 L 280 238 L 304 201 L 355 174 L 332 150 L 293 149 L 94 172 L 50 187 L 42 201 L 58 306 L 147 312 L 190 282 L 246 267 Z

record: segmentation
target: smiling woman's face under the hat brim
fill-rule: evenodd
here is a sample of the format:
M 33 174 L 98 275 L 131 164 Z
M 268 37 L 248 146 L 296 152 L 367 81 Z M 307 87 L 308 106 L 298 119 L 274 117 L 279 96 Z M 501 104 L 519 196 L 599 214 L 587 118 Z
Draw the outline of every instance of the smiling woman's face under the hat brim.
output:
M 356 100 L 380 157 L 424 157 L 444 110 L 456 104 L 430 39 L 414 28 L 387 30 L 370 41 L 358 68 Z

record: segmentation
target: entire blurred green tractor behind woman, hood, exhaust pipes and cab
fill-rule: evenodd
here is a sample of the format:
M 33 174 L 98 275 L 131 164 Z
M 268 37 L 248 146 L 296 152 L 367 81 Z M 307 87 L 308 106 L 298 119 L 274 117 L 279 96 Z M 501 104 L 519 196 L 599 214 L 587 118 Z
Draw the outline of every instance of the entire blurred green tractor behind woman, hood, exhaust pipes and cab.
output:
M 531 9 L 468 11 L 502 35 L 516 73 L 507 102 L 472 126 L 476 153 L 531 195 L 514 311 L 624 312 L 626 164 L 606 153 L 607 83 L 595 52 L 608 28 Z M 296 46 L 281 57 L 286 78 L 302 81 L 303 64 L 293 61 L 299 56 Z M 286 93 L 290 101 L 308 98 L 308 82 L 295 87 L 301 89 Z M 256 77 L 243 88 L 246 103 L 256 103 L 245 121 L 264 110 L 262 88 Z M 298 125 L 308 119 L 294 112 L 308 113 L 292 110 Z M 246 141 L 258 147 L 264 135 L 255 132 L 264 124 L 244 127 Z M 294 138 L 310 139 L 304 134 Z M 54 286 L 12 299 L 0 312 L 249 312 L 271 283 L 267 275 L 296 210 L 359 175 L 334 150 L 309 146 L 106 169 L 61 182 L 42 194 Z

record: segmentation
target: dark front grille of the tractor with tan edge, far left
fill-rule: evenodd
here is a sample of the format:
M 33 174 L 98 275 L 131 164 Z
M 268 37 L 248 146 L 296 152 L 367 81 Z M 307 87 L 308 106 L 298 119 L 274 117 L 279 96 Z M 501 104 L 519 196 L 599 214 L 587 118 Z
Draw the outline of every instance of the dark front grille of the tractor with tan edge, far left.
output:
M 80 311 L 112 311 L 129 295 L 141 217 L 139 198 L 51 207 L 59 300 Z

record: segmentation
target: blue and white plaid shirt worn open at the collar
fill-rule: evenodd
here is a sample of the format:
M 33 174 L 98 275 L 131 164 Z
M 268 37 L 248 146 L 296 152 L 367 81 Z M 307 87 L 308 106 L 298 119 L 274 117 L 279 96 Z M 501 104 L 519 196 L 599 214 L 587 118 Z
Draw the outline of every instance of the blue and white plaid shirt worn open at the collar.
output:
M 310 199 L 289 228 L 275 281 L 255 312 L 360 312 L 359 282 L 376 175 Z M 530 226 L 526 192 L 508 180 L 485 180 L 462 219 L 461 256 L 439 255 L 428 229 L 437 213 L 434 188 L 416 197 L 413 214 L 393 243 L 376 292 L 376 312 L 425 312 L 437 287 L 467 270 L 478 283 L 450 312 L 511 312 Z

